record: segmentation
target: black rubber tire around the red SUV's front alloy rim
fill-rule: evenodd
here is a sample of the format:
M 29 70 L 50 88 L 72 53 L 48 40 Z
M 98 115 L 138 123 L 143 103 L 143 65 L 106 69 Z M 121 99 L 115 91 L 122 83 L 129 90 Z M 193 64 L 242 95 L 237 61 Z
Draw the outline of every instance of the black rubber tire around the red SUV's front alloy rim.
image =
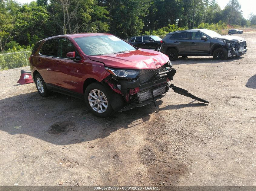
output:
M 91 108 L 91 106 L 89 104 L 88 96 L 89 96 L 90 91 L 93 89 L 98 89 L 98 90 L 102 91 L 108 100 L 108 108 L 104 113 L 97 113 L 96 111 L 94 111 Z M 107 87 L 103 86 L 102 84 L 92 83 L 92 84 L 88 85 L 87 88 L 85 89 L 85 104 L 93 115 L 95 115 L 97 117 L 109 117 L 113 113 L 113 109 L 112 109 L 110 100 L 111 100 L 111 96 L 114 93 L 115 92 L 113 92 L 110 88 L 107 88 Z

